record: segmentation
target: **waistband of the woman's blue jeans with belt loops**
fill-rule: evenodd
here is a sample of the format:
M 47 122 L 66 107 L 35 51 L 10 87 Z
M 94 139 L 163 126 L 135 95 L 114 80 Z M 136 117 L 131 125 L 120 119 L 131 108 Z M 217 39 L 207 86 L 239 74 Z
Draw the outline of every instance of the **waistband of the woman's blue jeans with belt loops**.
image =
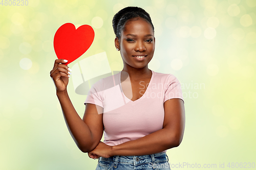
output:
M 123 164 L 144 164 L 144 163 L 159 163 L 159 162 L 168 162 L 168 156 L 165 152 L 151 154 L 151 155 L 140 155 L 140 156 L 112 156 L 109 158 L 102 158 L 100 157 L 98 161 L 105 161 L 105 162 L 115 162 L 123 163 Z M 114 165 L 115 166 L 115 165 Z

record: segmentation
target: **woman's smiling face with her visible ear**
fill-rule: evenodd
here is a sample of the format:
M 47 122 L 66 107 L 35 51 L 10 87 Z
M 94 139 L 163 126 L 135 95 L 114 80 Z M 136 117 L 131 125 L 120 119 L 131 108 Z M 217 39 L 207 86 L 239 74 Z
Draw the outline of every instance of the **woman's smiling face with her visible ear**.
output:
M 141 18 L 127 21 L 120 39 L 115 39 L 115 45 L 120 50 L 124 69 L 145 66 L 147 68 L 155 51 L 153 28 L 150 23 Z

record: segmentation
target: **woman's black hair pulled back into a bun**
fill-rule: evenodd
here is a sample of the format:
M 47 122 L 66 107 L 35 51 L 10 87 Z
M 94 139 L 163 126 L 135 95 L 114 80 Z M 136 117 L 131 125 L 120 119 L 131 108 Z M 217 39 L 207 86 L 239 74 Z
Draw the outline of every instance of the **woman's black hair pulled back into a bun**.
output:
M 118 39 L 121 37 L 121 31 L 124 29 L 126 21 L 137 17 L 144 18 L 146 21 L 148 21 L 154 31 L 154 26 L 151 21 L 150 14 L 148 14 L 140 7 L 126 7 L 118 11 L 112 20 L 114 33 Z

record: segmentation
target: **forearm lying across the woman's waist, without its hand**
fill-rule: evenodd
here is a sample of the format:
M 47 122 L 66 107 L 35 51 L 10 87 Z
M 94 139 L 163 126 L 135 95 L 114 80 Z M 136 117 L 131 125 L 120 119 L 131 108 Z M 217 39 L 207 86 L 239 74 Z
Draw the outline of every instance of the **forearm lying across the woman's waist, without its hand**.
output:
M 124 142 L 112 147 L 112 156 L 150 155 L 177 147 L 180 137 L 170 133 L 168 129 L 161 129 L 136 140 Z

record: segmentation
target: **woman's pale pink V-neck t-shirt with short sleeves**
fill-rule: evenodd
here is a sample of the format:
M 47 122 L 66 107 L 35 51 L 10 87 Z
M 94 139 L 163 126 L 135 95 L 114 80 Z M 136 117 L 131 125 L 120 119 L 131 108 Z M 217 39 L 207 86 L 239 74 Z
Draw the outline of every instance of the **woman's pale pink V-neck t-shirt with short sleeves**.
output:
M 183 100 L 181 84 L 172 74 L 152 70 L 145 93 L 136 101 L 124 95 L 120 76 L 121 71 L 93 84 L 84 102 L 103 107 L 103 142 L 112 146 L 162 129 L 164 102 L 173 98 Z

